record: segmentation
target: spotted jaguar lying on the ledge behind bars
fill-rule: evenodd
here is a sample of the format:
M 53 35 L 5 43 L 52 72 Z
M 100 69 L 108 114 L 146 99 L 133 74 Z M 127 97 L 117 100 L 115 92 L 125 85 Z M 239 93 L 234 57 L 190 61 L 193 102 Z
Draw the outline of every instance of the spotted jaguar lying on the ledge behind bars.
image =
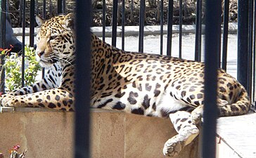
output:
M 37 17 L 35 55 L 46 67 L 44 79 L 1 96 L 5 107 L 45 107 L 75 110 L 74 15 L 49 20 Z M 219 117 L 246 114 L 250 98 L 245 88 L 218 70 Z M 122 51 L 91 33 L 91 107 L 121 110 L 172 121 L 177 135 L 167 140 L 163 154 L 174 157 L 198 136 L 203 116 L 204 64 L 167 55 Z

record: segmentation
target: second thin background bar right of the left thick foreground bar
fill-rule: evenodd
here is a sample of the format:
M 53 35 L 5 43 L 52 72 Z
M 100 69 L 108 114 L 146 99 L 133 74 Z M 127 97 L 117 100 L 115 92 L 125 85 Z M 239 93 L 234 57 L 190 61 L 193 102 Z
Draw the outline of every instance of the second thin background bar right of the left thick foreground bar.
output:
M 112 46 L 117 45 L 117 4 L 118 0 L 113 0 L 112 13 Z

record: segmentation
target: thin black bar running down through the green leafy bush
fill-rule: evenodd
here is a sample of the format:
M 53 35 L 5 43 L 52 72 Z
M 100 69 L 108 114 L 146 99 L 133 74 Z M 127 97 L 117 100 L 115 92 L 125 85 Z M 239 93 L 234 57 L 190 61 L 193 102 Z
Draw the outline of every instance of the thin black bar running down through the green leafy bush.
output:
M 26 1 L 23 0 L 23 55 L 21 62 L 21 86 L 24 86 L 24 76 L 25 76 L 25 27 L 26 27 Z

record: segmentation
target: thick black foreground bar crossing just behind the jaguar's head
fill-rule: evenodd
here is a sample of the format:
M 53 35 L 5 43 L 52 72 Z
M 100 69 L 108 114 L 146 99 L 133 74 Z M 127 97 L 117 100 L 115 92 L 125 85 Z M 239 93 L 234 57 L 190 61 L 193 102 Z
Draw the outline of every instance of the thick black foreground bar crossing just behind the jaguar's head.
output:
M 77 0 L 76 80 L 75 80 L 75 158 L 89 158 L 91 0 Z

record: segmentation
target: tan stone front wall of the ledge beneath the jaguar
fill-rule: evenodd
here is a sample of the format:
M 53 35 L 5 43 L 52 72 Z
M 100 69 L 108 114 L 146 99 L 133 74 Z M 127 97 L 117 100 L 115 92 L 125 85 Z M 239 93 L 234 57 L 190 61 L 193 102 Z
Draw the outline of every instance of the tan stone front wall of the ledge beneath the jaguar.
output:
M 0 152 L 19 144 L 26 158 L 72 157 L 74 112 L 20 108 L 0 114 Z M 91 157 L 160 158 L 166 140 L 176 135 L 169 119 L 91 110 Z M 198 157 L 198 140 L 179 158 Z

